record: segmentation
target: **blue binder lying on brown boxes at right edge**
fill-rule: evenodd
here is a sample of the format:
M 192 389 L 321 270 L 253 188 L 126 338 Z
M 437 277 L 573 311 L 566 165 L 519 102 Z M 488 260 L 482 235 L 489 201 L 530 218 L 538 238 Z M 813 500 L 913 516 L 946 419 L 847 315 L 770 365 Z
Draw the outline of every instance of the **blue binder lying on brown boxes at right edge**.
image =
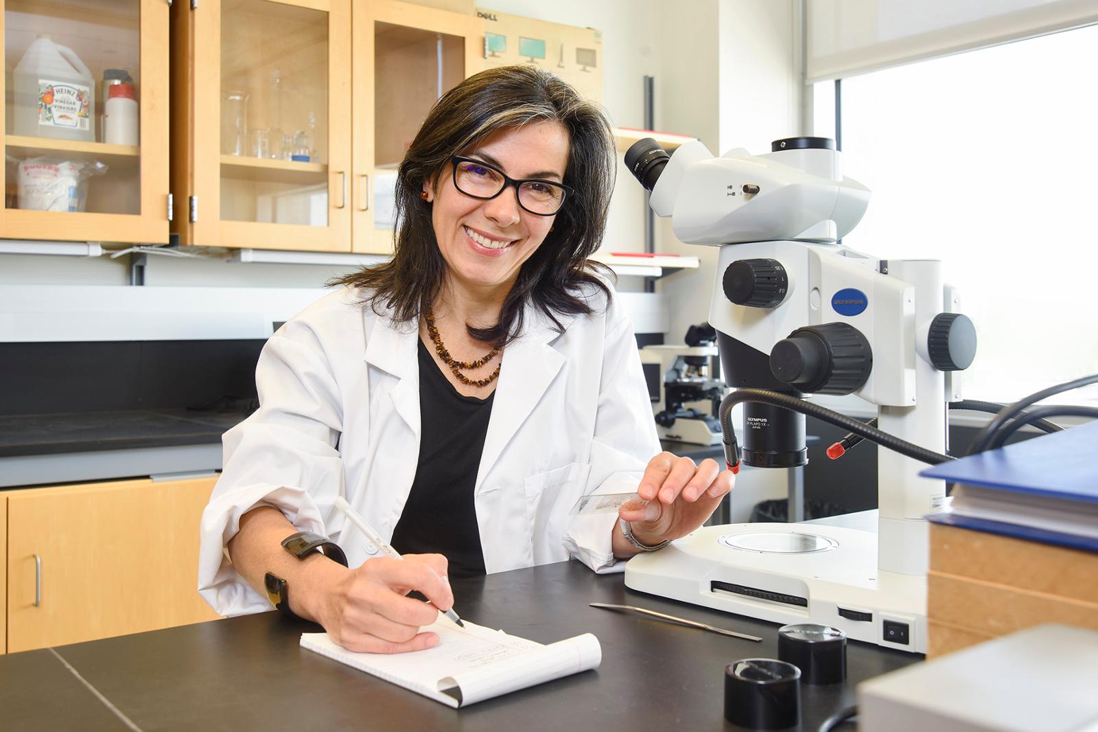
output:
M 1098 421 L 942 463 L 919 475 L 1058 501 L 1098 503 Z M 927 518 L 934 523 L 1098 552 L 1098 540 L 1089 536 L 957 513 Z

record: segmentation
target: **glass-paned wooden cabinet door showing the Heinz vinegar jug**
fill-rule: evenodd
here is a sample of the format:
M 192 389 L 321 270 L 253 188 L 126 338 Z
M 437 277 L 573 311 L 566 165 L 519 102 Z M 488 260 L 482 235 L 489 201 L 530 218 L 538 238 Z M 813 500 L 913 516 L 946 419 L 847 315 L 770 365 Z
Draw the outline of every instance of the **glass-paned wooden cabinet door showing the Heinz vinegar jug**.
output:
M 0 0 L 0 237 L 166 244 L 168 4 Z

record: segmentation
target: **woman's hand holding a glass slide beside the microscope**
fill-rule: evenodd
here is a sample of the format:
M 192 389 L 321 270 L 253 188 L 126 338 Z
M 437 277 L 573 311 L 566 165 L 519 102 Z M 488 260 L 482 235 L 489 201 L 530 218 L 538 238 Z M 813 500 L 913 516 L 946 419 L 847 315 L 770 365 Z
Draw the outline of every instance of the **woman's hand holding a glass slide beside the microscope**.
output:
M 618 515 L 642 544 L 679 539 L 705 523 L 735 483 L 732 472 L 714 459 L 694 465 L 688 457 L 663 452 L 649 461 L 637 488 L 648 503 L 626 503 Z

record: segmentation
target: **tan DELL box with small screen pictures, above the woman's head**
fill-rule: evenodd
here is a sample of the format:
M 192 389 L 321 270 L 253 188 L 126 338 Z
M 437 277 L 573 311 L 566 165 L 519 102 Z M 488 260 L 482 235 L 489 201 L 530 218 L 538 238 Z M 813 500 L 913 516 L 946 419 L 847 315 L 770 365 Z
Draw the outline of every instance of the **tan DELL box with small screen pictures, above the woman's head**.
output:
M 587 99 L 603 100 L 603 34 L 477 9 L 484 20 L 484 67 L 534 64 L 564 79 Z

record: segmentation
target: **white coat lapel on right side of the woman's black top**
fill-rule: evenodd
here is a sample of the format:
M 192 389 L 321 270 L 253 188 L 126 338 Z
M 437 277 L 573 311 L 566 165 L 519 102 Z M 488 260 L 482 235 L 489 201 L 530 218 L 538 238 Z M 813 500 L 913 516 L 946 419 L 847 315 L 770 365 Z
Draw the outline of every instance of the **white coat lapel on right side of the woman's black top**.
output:
M 559 317 L 559 320 L 567 328 L 572 319 Z M 500 459 L 507 443 L 564 365 L 564 357 L 550 345 L 559 335 L 552 323 L 531 308 L 527 309 L 525 321 L 529 325 L 503 352 L 500 384 L 495 388 L 484 451 L 477 472 L 477 493 L 481 492 L 485 476 Z

